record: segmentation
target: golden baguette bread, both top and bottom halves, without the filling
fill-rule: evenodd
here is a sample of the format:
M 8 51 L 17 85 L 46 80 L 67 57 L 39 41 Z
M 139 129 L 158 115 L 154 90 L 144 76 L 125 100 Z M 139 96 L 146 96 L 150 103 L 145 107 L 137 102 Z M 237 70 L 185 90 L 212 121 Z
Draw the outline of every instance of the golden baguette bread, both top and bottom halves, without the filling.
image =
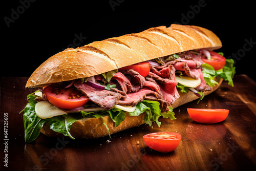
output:
M 26 88 L 49 86 L 52 83 L 86 78 L 130 66 L 138 62 L 164 57 L 196 49 L 215 50 L 222 47 L 220 39 L 211 31 L 197 26 L 173 24 L 166 28 L 160 26 L 140 33 L 95 41 L 80 48 L 69 48 L 59 52 L 42 63 L 30 76 Z M 217 78 L 220 86 L 222 78 Z M 198 99 L 192 92 L 180 93 L 172 104 L 173 109 Z M 104 122 L 114 134 L 144 123 L 145 113 L 129 116 L 115 127 L 110 116 L 104 116 Z M 49 123 L 42 126 L 40 132 L 50 137 L 63 136 L 50 129 Z M 70 133 L 75 138 L 99 138 L 109 134 L 102 118 L 83 118 L 74 122 Z

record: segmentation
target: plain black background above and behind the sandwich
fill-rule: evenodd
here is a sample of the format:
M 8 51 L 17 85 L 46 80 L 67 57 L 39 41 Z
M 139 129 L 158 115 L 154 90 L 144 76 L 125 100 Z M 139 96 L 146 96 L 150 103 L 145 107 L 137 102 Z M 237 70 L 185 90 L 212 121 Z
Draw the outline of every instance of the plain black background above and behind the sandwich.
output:
M 177 23 L 213 31 L 223 44 L 218 52 L 236 61 L 237 74 L 256 81 L 252 1 L 21 0 L 2 2 L 2 9 L 1 77 L 30 76 L 47 58 L 74 44 Z

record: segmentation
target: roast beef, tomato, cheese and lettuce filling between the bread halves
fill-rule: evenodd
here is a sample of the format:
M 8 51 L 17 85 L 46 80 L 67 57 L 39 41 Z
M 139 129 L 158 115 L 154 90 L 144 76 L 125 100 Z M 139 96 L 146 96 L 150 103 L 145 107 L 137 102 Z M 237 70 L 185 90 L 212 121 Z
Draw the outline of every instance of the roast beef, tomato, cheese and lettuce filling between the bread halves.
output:
M 155 121 L 160 126 L 160 116 L 176 119 L 171 105 L 180 97 L 178 90 L 192 91 L 200 101 L 218 84 L 217 76 L 233 86 L 233 60 L 223 58 L 205 49 L 187 51 L 39 89 L 28 95 L 23 110 L 25 141 L 35 140 L 47 122 L 55 132 L 74 138 L 69 131 L 75 121 L 109 115 L 118 126 L 125 112 L 130 116 L 145 112 L 146 124 Z

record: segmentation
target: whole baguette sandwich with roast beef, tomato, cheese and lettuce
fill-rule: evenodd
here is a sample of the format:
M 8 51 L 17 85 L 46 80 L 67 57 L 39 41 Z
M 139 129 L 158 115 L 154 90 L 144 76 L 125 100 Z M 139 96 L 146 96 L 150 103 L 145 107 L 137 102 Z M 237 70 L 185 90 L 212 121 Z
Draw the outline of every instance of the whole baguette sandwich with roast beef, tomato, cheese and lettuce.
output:
M 221 47 L 210 30 L 173 24 L 59 52 L 27 81 L 38 90 L 22 111 L 25 141 L 40 132 L 100 138 L 176 119 L 174 108 L 202 100 L 223 80 L 233 86 L 233 60 L 214 52 Z

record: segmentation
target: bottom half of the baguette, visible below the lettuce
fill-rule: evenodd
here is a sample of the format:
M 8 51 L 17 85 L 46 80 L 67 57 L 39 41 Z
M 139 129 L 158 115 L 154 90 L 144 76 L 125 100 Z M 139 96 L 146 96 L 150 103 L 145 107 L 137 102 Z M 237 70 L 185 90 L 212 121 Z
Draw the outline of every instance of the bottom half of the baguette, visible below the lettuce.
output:
M 223 79 L 220 77 L 216 78 L 216 81 L 219 82 L 218 85 L 211 87 L 211 91 L 204 92 L 205 95 L 208 95 L 214 91 L 216 91 Z M 179 91 L 179 90 L 178 90 Z M 172 104 L 173 109 L 177 108 L 178 106 L 188 103 L 190 101 L 196 100 L 199 97 L 196 96 L 193 92 L 188 93 L 181 93 L 179 91 L 180 97 Z M 139 126 L 144 122 L 145 113 L 140 114 L 139 116 L 130 116 L 128 112 L 125 113 L 126 118 L 124 121 L 121 122 L 119 126 L 115 126 L 115 123 L 110 118 L 109 115 L 104 116 L 104 122 L 109 127 L 110 134 L 114 134 L 126 129 L 130 129 L 135 126 Z M 41 128 L 41 133 L 47 135 L 49 137 L 63 137 L 63 134 L 57 133 L 50 129 L 49 122 L 46 123 Z M 102 118 L 83 118 L 71 125 L 70 134 L 75 138 L 86 138 L 86 139 L 93 139 L 93 138 L 100 138 L 104 136 L 108 136 L 109 133 L 106 130 L 105 125 L 103 124 Z

